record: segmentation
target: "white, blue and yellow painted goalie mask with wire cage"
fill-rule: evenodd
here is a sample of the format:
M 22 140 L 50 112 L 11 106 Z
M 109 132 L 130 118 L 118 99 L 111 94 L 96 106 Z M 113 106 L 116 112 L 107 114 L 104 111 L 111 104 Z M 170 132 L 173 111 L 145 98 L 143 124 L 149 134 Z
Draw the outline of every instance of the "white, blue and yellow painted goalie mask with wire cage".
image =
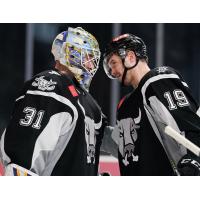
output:
M 69 27 L 57 35 L 52 45 L 55 60 L 66 66 L 85 89 L 89 89 L 100 60 L 95 37 L 82 29 Z

